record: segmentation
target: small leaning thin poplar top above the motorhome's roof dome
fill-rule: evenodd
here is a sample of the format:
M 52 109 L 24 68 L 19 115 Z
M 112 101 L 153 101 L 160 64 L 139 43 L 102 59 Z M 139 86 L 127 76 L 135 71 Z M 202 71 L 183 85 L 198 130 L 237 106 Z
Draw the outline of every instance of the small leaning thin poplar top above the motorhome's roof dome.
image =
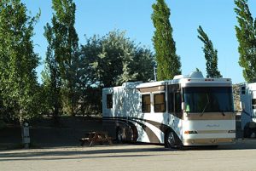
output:
M 201 26 L 197 29 L 199 36 L 197 36 L 202 43 L 204 43 L 203 51 L 207 60 L 207 77 L 222 77 L 218 71 L 218 51 L 213 48 L 212 41 L 203 31 Z

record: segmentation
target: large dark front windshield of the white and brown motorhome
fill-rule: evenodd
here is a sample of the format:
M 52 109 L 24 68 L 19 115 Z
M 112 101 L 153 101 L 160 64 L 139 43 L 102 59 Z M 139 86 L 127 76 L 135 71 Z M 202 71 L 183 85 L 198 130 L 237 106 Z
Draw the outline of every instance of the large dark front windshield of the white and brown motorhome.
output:
M 183 100 L 187 112 L 232 112 L 234 111 L 232 88 L 187 87 L 183 88 Z

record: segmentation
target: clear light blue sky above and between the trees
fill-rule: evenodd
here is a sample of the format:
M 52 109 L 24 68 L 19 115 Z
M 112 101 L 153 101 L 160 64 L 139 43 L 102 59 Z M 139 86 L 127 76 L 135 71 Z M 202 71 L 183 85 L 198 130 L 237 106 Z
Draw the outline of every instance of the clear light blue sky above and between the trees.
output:
M 32 15 L 41 10 L 41 16 L 34 27 L 35 52 L 41 57 L 38 79 L 44 69 L 47 41 L 44 26 L 50 23 L 53 10 L 50 0 L 21 0 Z M 79 43 L 85 43 L 85 36 L 104 36 L 109 31 L 125 31 L 126 37 L 154 52 L 152 37 L 154 26 L 151 20 L 152 4 L 156 0 L 73 0 L 76 3 L 76 31 Z M 238 64 L 237 26 L 234 0 L 166 0 L 171 9 L 172 37 L 176 42 L 177 55 L 182 63 L 182 74 L 188 75 L 198 68 L 206 76 L 206 60 L 203 43 L 198 39 L 198 26 L 202 26 L 218 50 L 218 70 L 233 83 L 242 83 L 242 68 Z M 248 0 L 249 9 L 256 17 L 255 0 Z

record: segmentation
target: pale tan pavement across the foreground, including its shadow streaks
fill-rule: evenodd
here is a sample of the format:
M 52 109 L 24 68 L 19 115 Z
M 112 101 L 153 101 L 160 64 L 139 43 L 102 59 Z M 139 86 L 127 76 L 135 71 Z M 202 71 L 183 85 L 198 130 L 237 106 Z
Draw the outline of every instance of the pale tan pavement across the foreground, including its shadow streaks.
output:
M 0 151 L 0 170 L 256 170 L 256 140 L 217 149 L 96 145 Z

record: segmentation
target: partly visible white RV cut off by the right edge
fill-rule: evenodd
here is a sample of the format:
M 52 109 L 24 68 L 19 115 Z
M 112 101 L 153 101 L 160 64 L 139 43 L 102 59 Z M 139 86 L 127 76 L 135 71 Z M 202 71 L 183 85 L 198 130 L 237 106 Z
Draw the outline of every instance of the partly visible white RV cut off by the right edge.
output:
M 242 83 L 240 86 L 241 129 L 245 138 L 256 134 L 256 83 Z

